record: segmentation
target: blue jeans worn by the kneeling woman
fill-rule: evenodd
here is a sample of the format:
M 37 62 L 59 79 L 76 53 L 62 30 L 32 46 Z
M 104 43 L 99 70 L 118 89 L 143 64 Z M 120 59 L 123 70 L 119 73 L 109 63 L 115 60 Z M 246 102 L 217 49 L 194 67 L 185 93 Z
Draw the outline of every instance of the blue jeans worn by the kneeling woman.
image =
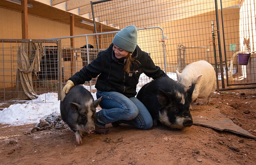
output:
M 100 90 L 97 90 L 96 97 L 102 97 L 99 103 L 102 110 L 97 112 L 96 126 L 105 127 L 105 124 L 117 121 L 143 130 L 152 128 L 153 119 L 149 111 L 136 97 L 127 98 L 118 92 Z

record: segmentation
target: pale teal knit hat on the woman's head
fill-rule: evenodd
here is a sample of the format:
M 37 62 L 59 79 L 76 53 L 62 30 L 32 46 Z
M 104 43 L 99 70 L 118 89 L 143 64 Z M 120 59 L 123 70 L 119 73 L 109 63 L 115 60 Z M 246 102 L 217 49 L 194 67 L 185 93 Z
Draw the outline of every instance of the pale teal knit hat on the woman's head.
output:
M 112 43 L 125 51 L 133 52 L 137 45 L 136 26 L 127 26 L 116 33 Z

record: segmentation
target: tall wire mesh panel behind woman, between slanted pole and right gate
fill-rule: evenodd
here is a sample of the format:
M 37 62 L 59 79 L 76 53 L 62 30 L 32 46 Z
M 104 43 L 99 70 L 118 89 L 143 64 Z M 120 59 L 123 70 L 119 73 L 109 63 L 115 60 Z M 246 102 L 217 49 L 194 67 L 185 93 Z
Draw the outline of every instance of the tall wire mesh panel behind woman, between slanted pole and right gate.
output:
M 93 19 L 102 22 L 104 29 L 107 27 L 122 29 L 130 24 L 134 24 L 137 28 L 156 25 L 162 27 L 167 37 L 165 44 L 168 71 L 174 72 L 180 62 L 184 62 L 183 65 L 186 66 L 204 59 L 214 64 L 211 42 L 212 20 L 216 26 L 214 0 L 201 1 L 200 4 L 194 1 L 104 0 L 92 4 Z M 143 12 L 140 13 L 141 11 Z M 96 31 L 98 32 L 99 29 L 96 28 Z M 184 51 L 186 54 L 183 54 L 182 58 L 178 55 L 180 45 L 186 48 Z M 208 49 L 196 49 L 200 47 Z

